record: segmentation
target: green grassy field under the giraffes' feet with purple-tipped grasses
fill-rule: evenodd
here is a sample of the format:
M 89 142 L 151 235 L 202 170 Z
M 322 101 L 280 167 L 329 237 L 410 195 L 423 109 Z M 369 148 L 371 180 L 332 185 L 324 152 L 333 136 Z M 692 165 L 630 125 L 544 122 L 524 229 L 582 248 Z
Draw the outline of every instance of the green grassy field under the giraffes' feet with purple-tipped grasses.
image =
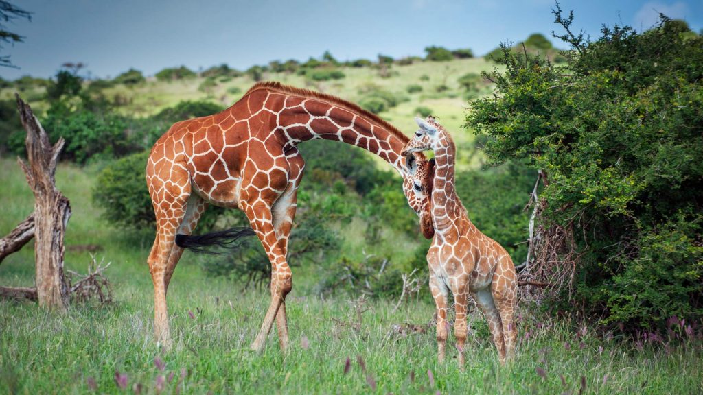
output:
M 32 211 L 32 193 L 17 164 L 0 160 L 0 235 Z M 263 354 L 252 342 L 268 306 L 260 290 L 205 275 L 186 253 L 169 288 L 174 349 L 163 354 L 152 335 L 153 288 L 146 256 L 150 242 L 99 219 L 90 200 L 97 167 L 62 165 L 58 188 L 72 202 L 66 266 L 85 272 L 87 252 L 111 261 L 106 276 L 115 302 L 72 304 L 65 315 L 28 302 L 0 302 L 0 393 L 488 393 L 696 394 L 703 391 L 700 340 L 624 342 L 579 329 L 570 320 L 541 320 L 522 306 L 520 344 L 501 366 L 479 313 L 470 314 L 472 339 L 465 371 L 456 360 L 437 363 L 433 328 L 410 334 L 394 325 L 427 325 L 433 306 L 418 301 L 393 311 L 395 301 L 356 296 L 321 299 L 312 272 L 294 268 L 289 296 L 291 346 L 281 354 L 272 334 Z M 73 247 L 72 247 L 73 246 Z M 0 284 L 31 285 L 32 245 L 0 265 Z M 361 320 L 357 311 L 361 313 Z M 451 349 L 450 356 L 456 356 Z M 350 367 L 345 373 L 349 358 Z M 360 363 L 361 361 L 361 363 Z M 116 380 L 116 375 L 120 380 Z

